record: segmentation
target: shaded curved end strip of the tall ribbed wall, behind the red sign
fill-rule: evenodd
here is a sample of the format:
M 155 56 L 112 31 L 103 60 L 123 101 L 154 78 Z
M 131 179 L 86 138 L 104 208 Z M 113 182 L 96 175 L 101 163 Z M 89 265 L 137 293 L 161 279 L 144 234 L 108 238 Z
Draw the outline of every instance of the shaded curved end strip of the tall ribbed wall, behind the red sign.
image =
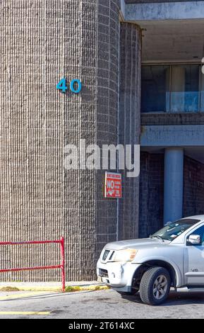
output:
M 119 101 L 119 1 L 100 0 L 97 34 L 97 145 L 117 145 Z M 114 171 L 114 170 L 113 170 Z M 116 240 L 116 199 L 104 199 L 104 171 L 97 171 L 96 259 Z

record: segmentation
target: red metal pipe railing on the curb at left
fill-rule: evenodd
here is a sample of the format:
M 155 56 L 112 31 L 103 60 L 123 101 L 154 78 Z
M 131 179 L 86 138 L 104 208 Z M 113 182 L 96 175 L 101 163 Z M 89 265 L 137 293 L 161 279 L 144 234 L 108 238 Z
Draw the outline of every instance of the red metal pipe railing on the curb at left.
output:
M 28 241 L 28 242 L 0 242 L 0 245 L 24 245 L 24 244 L 60 244 L 61 249 L 61 265 L 55 266 L 35 266 L 35 267 L 24 267 L 18 269 L 0 269 L 0 273 L 14 272 L 14 271 L 35 271 L 40 269 L 61 269 L 61 290 L 65 291 L 65 256 L 64 256 L 64 237 L 60 240 L 45 240 L 45 241 Z

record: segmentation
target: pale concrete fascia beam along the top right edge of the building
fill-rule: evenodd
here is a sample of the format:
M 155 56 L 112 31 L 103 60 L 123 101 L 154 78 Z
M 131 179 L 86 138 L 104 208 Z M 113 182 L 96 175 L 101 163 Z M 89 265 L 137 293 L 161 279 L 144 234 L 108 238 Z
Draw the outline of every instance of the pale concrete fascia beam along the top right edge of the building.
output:
M 187 20 L 204 18 L 204 1 L 126 4 L 123 6 L 126 21 Z

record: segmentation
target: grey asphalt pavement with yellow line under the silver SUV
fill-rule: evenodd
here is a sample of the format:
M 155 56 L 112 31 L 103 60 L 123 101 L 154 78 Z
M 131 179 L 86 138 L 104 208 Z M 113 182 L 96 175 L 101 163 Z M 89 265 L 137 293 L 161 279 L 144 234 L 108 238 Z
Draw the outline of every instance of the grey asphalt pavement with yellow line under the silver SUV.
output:
M 204 293 L 171 292 L 166 303 L 152 307 L 144 305 L 139 295 L 121 297 L 114 290 L 1 292 L 2 318 L 204 318 Z

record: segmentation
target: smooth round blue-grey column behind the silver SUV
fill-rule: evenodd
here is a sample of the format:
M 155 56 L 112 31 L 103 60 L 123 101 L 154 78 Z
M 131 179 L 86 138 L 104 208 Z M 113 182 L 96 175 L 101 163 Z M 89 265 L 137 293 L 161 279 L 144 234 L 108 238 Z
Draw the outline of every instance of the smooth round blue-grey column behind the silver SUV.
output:
M 167 148 L 164 152 L 164 223 L 183 215 L 184 149 Z

